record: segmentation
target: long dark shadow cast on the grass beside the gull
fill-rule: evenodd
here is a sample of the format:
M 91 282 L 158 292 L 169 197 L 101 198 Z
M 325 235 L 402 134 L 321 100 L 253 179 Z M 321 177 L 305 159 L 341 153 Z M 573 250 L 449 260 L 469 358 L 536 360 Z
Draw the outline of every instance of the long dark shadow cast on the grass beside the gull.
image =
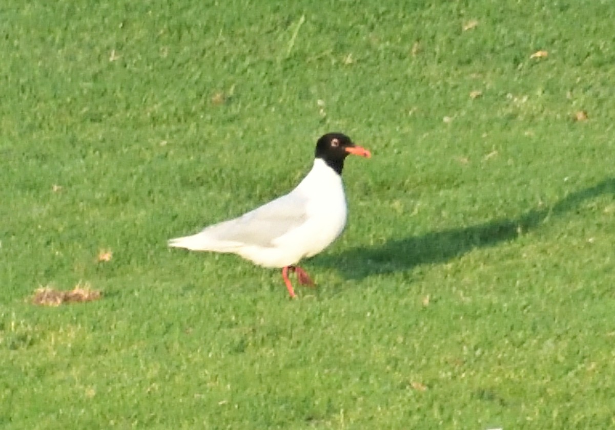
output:
M 582 201 L 605 193 L 615 195 L 615 178 L 571 193 L 552 207 L 532 209 L 515 219 L 498 219 L 470 227 L 392 239 L 373 248 L 357 247 L 339 254 L 323 255 L 314 262 L 337 268 L 347 279 L 399 272 L 421 264 L 442 263 L 475 248 L 514 240 L 520 232 L 536 229 L 552 217 L 573 211 Z

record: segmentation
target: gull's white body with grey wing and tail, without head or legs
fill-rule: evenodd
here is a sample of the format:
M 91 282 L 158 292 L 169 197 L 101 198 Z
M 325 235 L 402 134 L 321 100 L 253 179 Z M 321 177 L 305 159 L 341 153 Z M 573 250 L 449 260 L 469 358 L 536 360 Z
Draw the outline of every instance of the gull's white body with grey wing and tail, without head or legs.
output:
M 346 225 L 342 179 L 321 158 L 295 189 L 243 216 L 211 225 L 169 246 L 232 252 L 264 267 L 294 265 L 327 248 Z

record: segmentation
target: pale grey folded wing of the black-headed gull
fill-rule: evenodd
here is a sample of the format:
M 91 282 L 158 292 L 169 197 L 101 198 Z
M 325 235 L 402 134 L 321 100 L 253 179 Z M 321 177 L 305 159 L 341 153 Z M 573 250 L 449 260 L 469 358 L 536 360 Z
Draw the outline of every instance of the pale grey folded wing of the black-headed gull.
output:
M 269 247 L 272 241 L 308 219 L 308 202 L 294 193 L 284 195 L 238 218 L 215 224 L 203 232 L 220 241 Z

